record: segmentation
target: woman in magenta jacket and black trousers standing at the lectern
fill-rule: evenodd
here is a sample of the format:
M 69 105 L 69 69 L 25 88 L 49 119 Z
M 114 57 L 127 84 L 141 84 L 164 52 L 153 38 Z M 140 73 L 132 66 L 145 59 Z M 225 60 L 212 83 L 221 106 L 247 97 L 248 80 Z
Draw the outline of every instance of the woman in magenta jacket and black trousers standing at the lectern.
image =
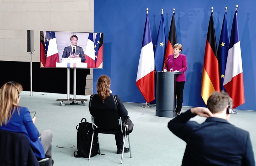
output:
M 187 70 L 187 57 L 181 54 L 182 45 L 177 43 L 173 46 L 173 54 L 169 55 L 166 61 L 164 71 L 182 72 L 182 74 L 176 75 L 175 94 L 177 96 L 176 113 L 178 115 L 181 112 L 183 102 L 183 89 L 186 81 L 185 71 Z

